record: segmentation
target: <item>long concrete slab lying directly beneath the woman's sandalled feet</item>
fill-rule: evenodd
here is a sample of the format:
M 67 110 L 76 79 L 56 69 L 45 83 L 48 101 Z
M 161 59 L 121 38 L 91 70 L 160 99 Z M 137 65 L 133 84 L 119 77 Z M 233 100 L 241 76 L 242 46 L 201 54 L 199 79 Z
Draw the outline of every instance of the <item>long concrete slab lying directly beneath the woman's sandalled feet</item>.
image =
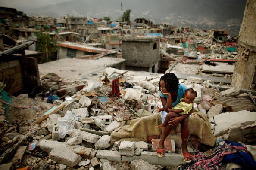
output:
M 140 154 L 140 159 L 150 162 L 151 164 L 164 166 L 178 166 L 179 164 L 185 164 L 183 156 L 175 153 L 165 153 L 165 156 L 160 158 L 156 155 L 156 152 L 143 151 Z

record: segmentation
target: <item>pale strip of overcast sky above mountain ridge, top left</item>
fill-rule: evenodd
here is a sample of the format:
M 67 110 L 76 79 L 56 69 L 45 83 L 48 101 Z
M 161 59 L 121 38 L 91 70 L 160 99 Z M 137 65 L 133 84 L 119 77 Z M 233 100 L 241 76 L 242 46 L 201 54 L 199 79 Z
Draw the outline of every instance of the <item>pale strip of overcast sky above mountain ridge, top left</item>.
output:
M 70 0 L 0 0 L 0 6 L 9 8 L 42 7 Z

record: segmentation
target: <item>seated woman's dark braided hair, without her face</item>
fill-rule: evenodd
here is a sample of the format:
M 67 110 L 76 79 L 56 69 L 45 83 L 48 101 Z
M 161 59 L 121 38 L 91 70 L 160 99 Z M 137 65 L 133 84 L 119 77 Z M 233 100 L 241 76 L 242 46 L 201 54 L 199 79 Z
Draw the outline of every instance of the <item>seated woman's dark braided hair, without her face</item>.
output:
M 166 73 L 160 78 L 160 81 L 163 80 L 165 82 L 165 88 L 171 91 L 177 91 L 179 88 L 179 80 L 174 73 Z M 161 89 L 159 81 L 159 90 Z

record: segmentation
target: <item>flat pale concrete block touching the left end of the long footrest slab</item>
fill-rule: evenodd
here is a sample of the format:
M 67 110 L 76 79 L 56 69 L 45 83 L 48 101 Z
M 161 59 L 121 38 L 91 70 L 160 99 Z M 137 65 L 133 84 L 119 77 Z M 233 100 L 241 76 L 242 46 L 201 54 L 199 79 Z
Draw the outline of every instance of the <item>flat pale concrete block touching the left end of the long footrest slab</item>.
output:
M 109 161 L 122 162 L 121 155 L 118 151 L 98 150 L 96 158 L 107 158 Z

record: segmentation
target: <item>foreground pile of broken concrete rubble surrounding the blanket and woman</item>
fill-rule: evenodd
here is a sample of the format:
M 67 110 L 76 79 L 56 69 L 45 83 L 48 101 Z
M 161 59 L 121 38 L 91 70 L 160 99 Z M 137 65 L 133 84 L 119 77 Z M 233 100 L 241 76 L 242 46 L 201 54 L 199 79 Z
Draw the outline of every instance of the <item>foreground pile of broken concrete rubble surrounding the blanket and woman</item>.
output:
M 154 144 L 147 141 L 116 141 L 113 146 L 110 145 L 110 135 L 119 127 L 120 122 L 103 109 L 97 99 L 110 94 L 111 81 L 116 76 L 119 76 L 120 100 L 133 103 L 133 108 L 159 114 L 156 106 L 161 107 L 158 83 L 162 74 L 106 68 L 103 73 L 97 73 L 97 79 L 79 81 L 83 87 L 81 90 L 76 88 L 76 91 L 71 93 L 67 85 L 63 85 L 66 87 L 62 86 L 62 89 L 53 88 L 59 82 L 44 79 L 45 83 L 51 85 L 55 94 L 62 96 L 48 100 L 52 104 L 43 102 L 48 99 L 45 96 L 43 98 L 38 95 L 34 100 L 24 97 L 25 95 L 19 96 L 20 103 L 31 106 L 20 110 L 20 114 L 24 112 L 22 115 L 28 116 L 23 124 L 11 125 L 3 114 L 0 116 L 3 152 L 0 162 L 3 164 L 12 160 L 8 165 L 3 164 L 0 167 L 48 167 L 50 170 L 92 170 L 100 167 L 116 170 L 121 167 L 155 170 L 163 166 L 177 168 L 179 164 L 184 164 L 180 154 L 181 148 L 177 147 L 173 140 L 169 142 L 172 151 L 161 159 L 153 150 Z M 246 93 L 197 77 L 187 77 L 179 82 L 197 91 L 194 110 L 207 115 L 216 137 L 246 144 L 256 143 L 256 106 L 252 102 L 256 98 L 255 91 Z M 72 85 L 76 85 L 73 83 Z M 75 87 L 78 86 L 79 84 Z M 74 87 L 70 87 L 72 88 Z M 143 102 L 145 100 L 146 102 Z M 228 103 L 228 100 L 232 101 Z M 232 103 L 236 100 L 240 103 L 239 106 Z M 109 112 L 116 111 L 116 107 L 107 105 L 106 109 L 110 110 Z M 4 150 L 3 146 L 8 145 L 8 149 Z M 200 149 L 192 148 L 190 151 Z

